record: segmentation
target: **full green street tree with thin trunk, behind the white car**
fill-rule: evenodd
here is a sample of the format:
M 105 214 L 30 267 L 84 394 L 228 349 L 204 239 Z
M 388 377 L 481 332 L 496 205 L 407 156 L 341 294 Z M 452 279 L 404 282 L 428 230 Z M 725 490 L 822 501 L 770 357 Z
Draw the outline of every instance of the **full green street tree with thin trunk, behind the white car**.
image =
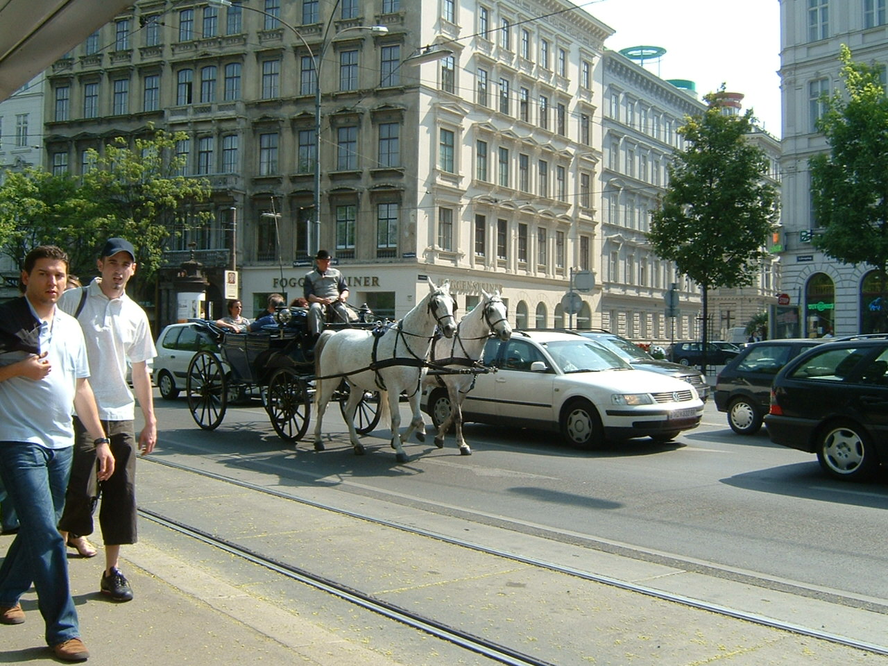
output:
M 670 183 L 647 234 L 654 252 L 702 289 L 704 371 L 709 290 L 754 281 L 777 214 L 765 154 L 744 139 L 752 111 L 725 115 L 718 93 L 705 99 L 710 107 L 678 130 L 687 147 L 670 164 Z

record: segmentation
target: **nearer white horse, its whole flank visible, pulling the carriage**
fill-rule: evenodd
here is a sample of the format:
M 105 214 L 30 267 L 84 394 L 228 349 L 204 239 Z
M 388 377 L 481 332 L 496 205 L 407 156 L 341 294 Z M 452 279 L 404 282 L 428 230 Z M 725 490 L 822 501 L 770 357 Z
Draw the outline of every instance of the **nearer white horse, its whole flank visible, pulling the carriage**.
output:
M 364 329 L 343 329 L 324 331 L 314 347 L 315 412 L 317 424 L 314 426 L 314 448 L 322 451 L 321 424 L 327 403 L 336 391 L 340 378 L 349 385 L 348 402 L 345 405 L 345 422 L 355 454 L 361 456 L 364 447 L 354 429 L 354 412 L 364 391 L 379 391 L 380 408 L 387 398 L 389 416 L 392 422 L 392 448 L 399 463 L 408 461 L 401 442 L 407 441 L 416 429 L 416 437 L 425 438 L 425 425 L 419 409 L 421 384 L 424 376 L 426 357 L 432 344 L 435 327 L 445 337 L 453 337 L 456 321 L 453 316 L 453 298 L 450 296 L 449 282 L 440 288 L 431 280 L 429 293 L 400 321 L 381 335 Z M 326 379 L 324 377 L 327 377 Z M 413 420 L 407 432 L 399 436 L 400 393 L 407 392 Z

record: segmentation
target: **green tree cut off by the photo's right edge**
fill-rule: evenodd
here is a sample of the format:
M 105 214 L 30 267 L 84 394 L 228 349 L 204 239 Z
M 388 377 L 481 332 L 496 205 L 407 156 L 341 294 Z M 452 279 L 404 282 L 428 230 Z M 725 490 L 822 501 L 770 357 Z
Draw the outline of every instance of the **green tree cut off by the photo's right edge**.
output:
M 813 210 L 821 231 L 813 246 L 844 264 L 868 264 L 878 272 L 876 326 L 888 331 L 888 98 L 880 67 L 839 53 L 844 92 L 825 98 L 817 129 L 829 153 L 810 160 Z

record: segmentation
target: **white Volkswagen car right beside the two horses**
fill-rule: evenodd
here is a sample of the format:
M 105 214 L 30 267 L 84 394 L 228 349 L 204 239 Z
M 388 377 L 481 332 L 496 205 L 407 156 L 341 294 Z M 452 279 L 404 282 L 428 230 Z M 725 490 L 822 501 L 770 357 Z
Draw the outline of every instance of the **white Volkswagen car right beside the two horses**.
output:
M 491 339 L 480 374 L 463 403 L 464 421 L 561 432 L 568 443 L 651 437 L 668 441 L 697 427 L 703 403 L 694 386 L 632 369 L 598 342 L 565 331 L 514 331 Z M 447 392 L 432 389 L 424 410 L 438 427 L 448 416 Z

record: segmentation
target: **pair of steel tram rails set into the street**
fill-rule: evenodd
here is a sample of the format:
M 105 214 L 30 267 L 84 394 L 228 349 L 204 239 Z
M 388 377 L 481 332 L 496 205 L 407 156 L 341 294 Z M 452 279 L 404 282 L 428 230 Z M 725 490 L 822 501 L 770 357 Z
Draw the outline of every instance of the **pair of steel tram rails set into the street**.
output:
M 196 469 L 187 465 L 160 460 L 157 458 L 147 458 L 146 460 L 154 464 L 167 466 L 181 472 L 190 472 L 205 477 L 207 479 L 218 480 L 227 484 L 231 484 L 238 488 L 248 489 L 250 491 L 265 494 L 267 496 L 274 496 L 287 500 L 289 502 L 305 504 L 306 506 L 310 506 L 322 511 L 332 511 L 339 515 L 367 521 L 377 526 L 397 529 L 403 532 L 407 532 L 411 535 L 424 536 L 443 543 L 449 543 L 452 545 L 460 546 L 462 548 L 467 548 L 479 553 L 508 559 L 523 565 L 527 565 L 529 567 L 539 567 L 541 569 L 547 569 L 559 574 L 574 576 L 575 578 L 579 578 L 591 583 L 605 584 L 623 591 L 629 591 L 632 593 L 645 595 L 646 597 L 677 603 L 684 607 L 708 611 L 710 613 L 723 615 L 725 617 L 730 617 L 737 620 L 753 622 L 755 624 L 769 627 L 775 630 L 789 631 L 797 635 L 828 641 L 829 643 L 833 643 L 836 645 L 852 647 L 854 649 L 859 649 L 875 654 L 888 655 L 888 647 L 877 645 L 876 643 L 873 643 L 871 641 L 849 638 L 837 634 L 836 632 L 817 630 L 794 622 L 775 620 L 772 617 L 767 617 L 762 614 L 738 610 L 735 608 L 726 607 L 725 605 L 712 603 L 700 599 L 693 599 L 681 594 L 673 593 L 670 591 L 663 591 L 661 589 L 656 589 L 644 584 L 630 583 L 606 575 L 591 574 L 588 571 L 583 571 L 574 567 L 566 567 L 557 563 L 545 561 L 543 559 L 527 557 L 524 555 L 516 554 L 515 552 L 497 549 L 494 547 L 482 545 L 480 543 L 473 543 L 472 541 L 456 538 L 453 536 L 441 535 L 439 533 L 435 533 L 421 527 L 408 526 L 389 519 L 381 519 L 375 516 L 368 515 L 366 513 L 361 513 L 359 511 L 349 511 L 304 497 L 289 495 L 285 492 L 277 491 L 272 488 L 265 488 L 254 483 L 250 483 L 249 481 L 237 480 L 222 474 L 218 474 L 216 472 Z M 480 638 L 473 635 L 472 633 L 458 630 L 453 627 L 448 627 L 446 624 L 424 616 L 423 614 L 416 614 L 406 608 L 394 605 L 391 602 L 385 601 L 383 599 L 377 599 L 373 595 L 358 591 L 351 586 L 337 583 L 337 581 L 321 575 L 313 574 L 312 572 L 307 571 L 303 568 L 294 567 L 293 565 L 287 562 L 283 562 L 280 559 L 269 558 L 262 553 L 243 546 L 242 544 L 234 543 L 232 541 L 226 540 L 225 538 L 211 535 L 209 532 L 202 530 L 200 527 L 186 525 L 185 523 L 176 519 L 170 519 L 167 516 L 163 516 L 161 513 L 156 511 L 148 511 L 146 509 L 140 508 L 139 512 L 147 519 L 151 519 L 155 521 L 155 523 L 163 527 L 175 530 L 179 534 L 189 536 L 201 541 L 202 543 L 206 543 L 222 551 L 226 551 L 234 556 L 246 559 L 259 566 L 274 570 L 276 573 L 285 575 L 293 580 L 298 581 L 299 583 L 304 583 L 306 585 L 312 586 L 317 590 L 324 591 L 339 599 L 344 599 L 349 603 L 365 608 L 373 613 L 383 615 L 393 621 L 406 624 L 410 627 L 415 628 L 416 630 L 424 631 L 425 633 L 428 633 L 436 638 L 446 640 L 449 643 L 463 647 L 464 649 L 472 651 L 476 654 L 483 654 L 484 656 L 496 662 L 516 665 L 539 664 L 539 666 L 548 666 L 548 664 L 550 663 L 541 661 L 540 659 L 532 655 L 523 654 L 507 646 L 499 645 L 496 642 L 488 641 L 485 638 Z M 591 542 L 591 540 L 587 541 Z M 686 568 L 693 568 L 693 565 L 692 567 L 688 567 L 688 565 L 691 563 L 684 564 Z M 792 586 L 790 585 L 789 587 L 791 588 Z M 805 589 L 800 588 L 799 591 L 805 591 Z M 844 599 L 847 602 L 844 604 L 846 606 L 858 608 L 864 607 L 864 605 L 858 599 Z M 888 607 L 878 607 L 877 605 L 873 604 L 869 604 L 868 606 L 869 607 L 867 608 L 867 610 L 871 610 L 880 614 L 888 614 Z

